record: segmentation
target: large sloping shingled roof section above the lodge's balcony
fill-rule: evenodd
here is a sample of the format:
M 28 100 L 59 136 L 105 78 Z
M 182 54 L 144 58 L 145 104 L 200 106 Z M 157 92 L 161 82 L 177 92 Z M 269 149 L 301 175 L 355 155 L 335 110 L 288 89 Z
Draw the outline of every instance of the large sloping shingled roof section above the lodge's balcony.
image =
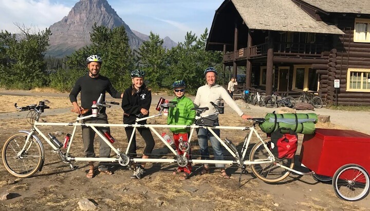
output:
M 343 34 L 343 31 L 334 25 L 316 21 L 290 0 L 231 0 L 231 2 L 250 29 Z

